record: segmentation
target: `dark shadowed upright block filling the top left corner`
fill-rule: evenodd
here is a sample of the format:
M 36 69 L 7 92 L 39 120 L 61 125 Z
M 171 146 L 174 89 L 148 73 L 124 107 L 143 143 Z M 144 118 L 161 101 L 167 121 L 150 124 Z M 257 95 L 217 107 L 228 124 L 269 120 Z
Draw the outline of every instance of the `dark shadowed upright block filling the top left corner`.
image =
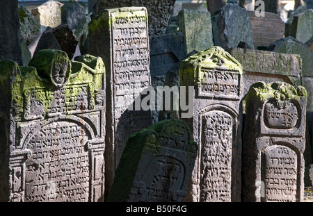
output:
M 17 1 L 2 0 L 0 7 L 0 60 L 10 59 L 22 65 Z

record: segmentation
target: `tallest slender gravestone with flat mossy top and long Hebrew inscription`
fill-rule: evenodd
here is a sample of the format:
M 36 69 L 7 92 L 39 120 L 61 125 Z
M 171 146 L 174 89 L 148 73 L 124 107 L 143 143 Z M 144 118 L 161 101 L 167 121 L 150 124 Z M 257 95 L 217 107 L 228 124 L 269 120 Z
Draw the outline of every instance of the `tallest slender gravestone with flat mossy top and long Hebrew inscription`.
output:
M 143 7 L 104 10 L 88 24 L 88 53 L 106 65 L 106 188 L 131 133 L 152 124 L 151 113 L 131 110 L 151 85 L 147 10 Z

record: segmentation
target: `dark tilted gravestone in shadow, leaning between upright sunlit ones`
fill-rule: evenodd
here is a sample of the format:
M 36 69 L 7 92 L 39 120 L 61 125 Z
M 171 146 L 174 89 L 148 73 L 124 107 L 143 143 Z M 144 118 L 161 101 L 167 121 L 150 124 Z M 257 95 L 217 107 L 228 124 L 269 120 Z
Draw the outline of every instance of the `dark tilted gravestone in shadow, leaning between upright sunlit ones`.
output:
M 132 134 L 108 201 L 183 201 L 197 150 L 190 129 L 179 119 Z

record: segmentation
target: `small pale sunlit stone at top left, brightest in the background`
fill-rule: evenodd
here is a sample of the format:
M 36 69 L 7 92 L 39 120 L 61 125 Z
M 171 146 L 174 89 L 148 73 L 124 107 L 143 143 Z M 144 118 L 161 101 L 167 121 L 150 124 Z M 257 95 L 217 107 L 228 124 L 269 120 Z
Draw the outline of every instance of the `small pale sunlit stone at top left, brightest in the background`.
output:
M 49 0 L 43 3 L 41 6 L 31 10 L 31 14 L 35 19 L 40 22 L 42 26 L 50 26 L 55 28 L 62 24 L 61 19 L 61 7 L 63 3 L 58 1 Z

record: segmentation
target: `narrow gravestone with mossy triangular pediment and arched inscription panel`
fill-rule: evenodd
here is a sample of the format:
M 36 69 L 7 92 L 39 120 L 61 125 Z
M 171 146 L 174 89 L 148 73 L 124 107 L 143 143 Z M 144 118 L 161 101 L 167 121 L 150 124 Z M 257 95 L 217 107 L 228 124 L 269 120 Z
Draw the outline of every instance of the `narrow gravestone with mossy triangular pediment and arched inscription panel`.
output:
M 194 86 L 193 117 L 183 119 L 199 144 L 185 201 L 240 201 L 242 67 L 220 47 L 182 61 L 179 85 Z

